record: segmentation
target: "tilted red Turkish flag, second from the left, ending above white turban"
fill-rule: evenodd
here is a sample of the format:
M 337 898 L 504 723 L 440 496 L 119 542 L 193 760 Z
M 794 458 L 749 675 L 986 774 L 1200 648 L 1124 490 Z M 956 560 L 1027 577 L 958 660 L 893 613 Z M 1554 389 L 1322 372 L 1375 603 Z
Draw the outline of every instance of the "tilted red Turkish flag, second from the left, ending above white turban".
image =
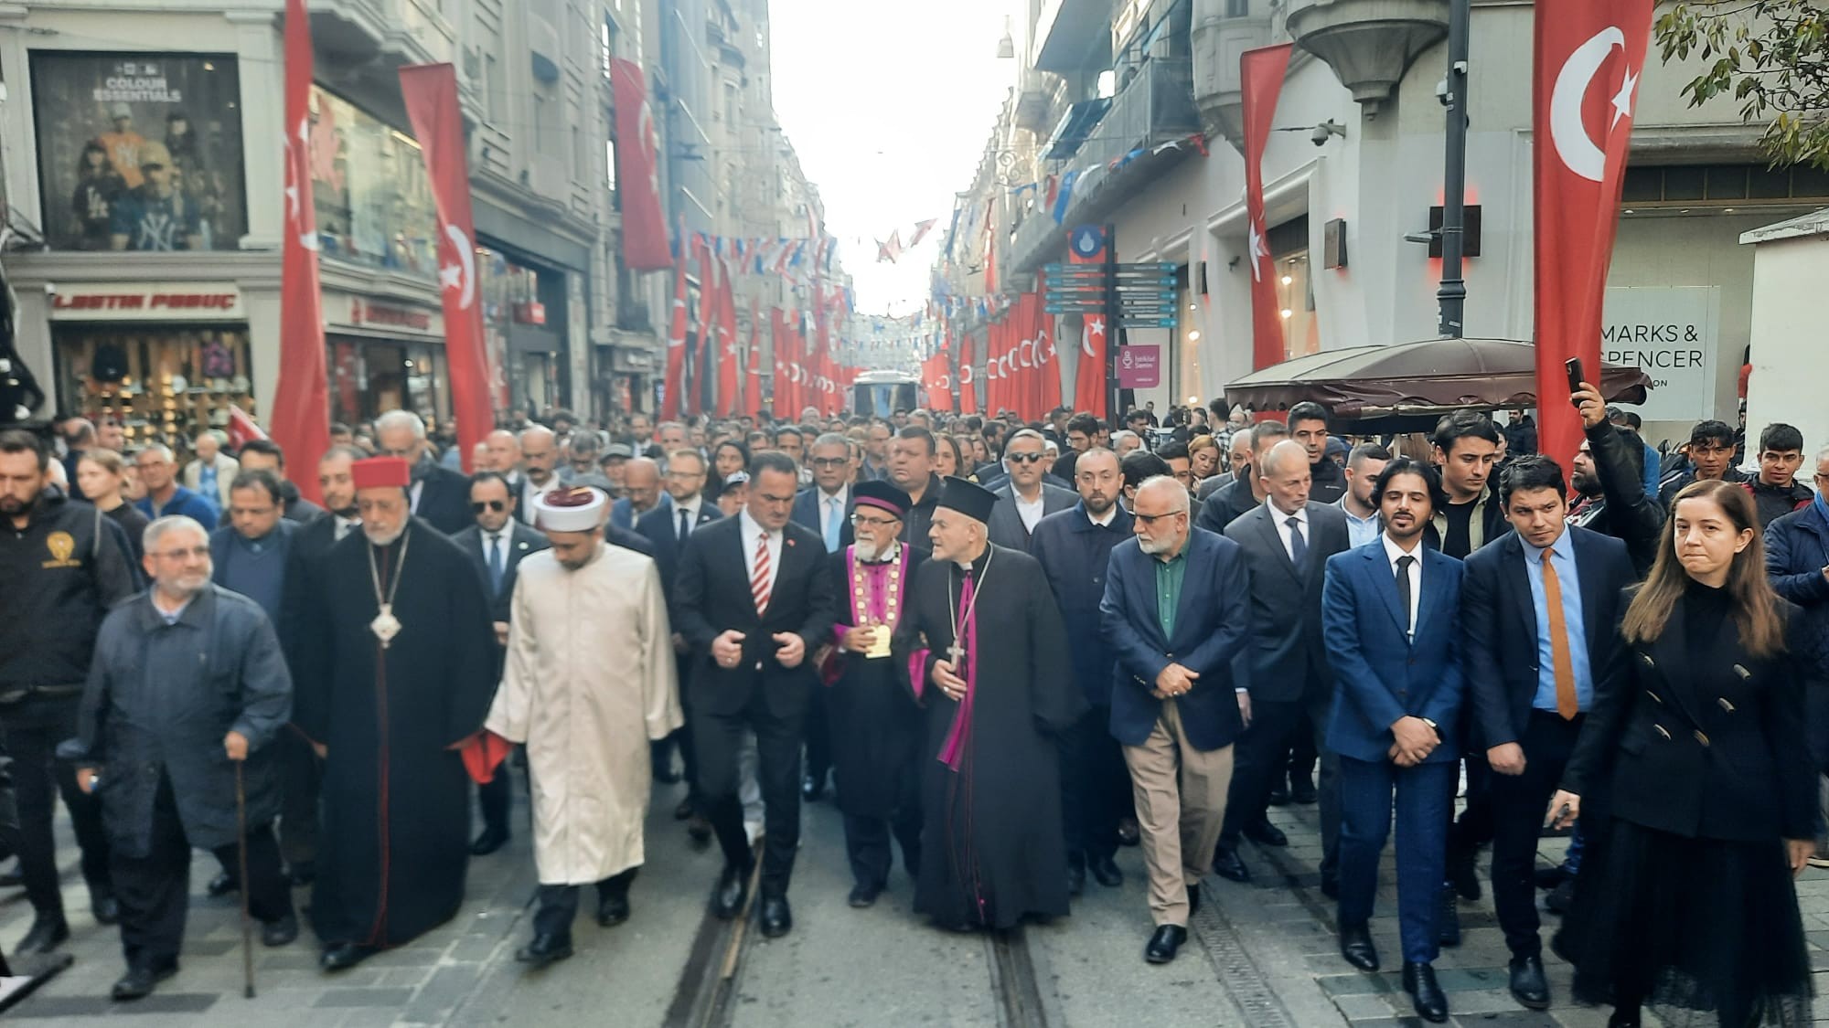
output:
M 496 430 L 488 402 L 488 360 L 483 357 L 483 307 L 477 304 L 476 227 L 470 221 L 470 172 L 465 165 L 457 73 L 450 64 L 401 68 L 401 97 L 419 137 L 439 212 L 439 294 L 444 302 L 444 362 L 452 382 L 457 452 L 470 470 L 470 452 Z

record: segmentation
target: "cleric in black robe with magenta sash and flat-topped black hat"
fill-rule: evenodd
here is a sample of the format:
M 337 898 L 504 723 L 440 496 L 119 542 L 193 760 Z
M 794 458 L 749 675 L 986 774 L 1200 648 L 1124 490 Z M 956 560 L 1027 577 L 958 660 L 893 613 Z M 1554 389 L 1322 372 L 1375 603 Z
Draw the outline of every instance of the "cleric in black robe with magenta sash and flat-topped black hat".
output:
M 949 477 L 894 635 L 925 708 L 914 909 L 949 929 L 1068 913 L 1055 737 L 1086 712 L 1035 558 L 986 538 L 997 494 Z M 922 653 L 925 649 L 925 653 Z

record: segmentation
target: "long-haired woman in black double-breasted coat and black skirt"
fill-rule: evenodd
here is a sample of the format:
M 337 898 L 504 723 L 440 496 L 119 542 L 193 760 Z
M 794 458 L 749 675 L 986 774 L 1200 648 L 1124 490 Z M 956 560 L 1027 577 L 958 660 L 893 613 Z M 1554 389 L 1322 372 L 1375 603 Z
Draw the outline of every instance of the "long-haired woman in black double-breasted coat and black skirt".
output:
M 1613 1004 L 1610 1026 L 1637 1026 L 1641 1004 L 1732 1028 L 1811 1021 L 1791 878 L 1814 851 L 1816 772 L 1787 649 L 1802 637 L 1758 529 L 1741 485 L 1677 494 L 1620 624 L 1624 666 L 1595 677 L 1551 799 L 1562 825 L 1589 798 L 1593 849 L 1555 948 L 1577 999 Z

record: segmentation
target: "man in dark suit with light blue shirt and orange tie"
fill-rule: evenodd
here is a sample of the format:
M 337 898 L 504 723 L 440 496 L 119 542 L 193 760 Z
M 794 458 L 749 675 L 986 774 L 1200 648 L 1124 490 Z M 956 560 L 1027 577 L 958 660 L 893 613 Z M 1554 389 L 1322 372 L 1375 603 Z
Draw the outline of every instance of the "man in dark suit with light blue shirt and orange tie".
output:
M 1469 554 L 1465 677 L 1492 765 L 1492 905 L 1511 949 L 1511 995 L 1549 1006 L 1536 916 L 1536 840 L 1597 679 L 1613 668 L 1626 543 L 1567 523 L 1562 466 L 1518 457 L 1498 499 L 1513 530 Z

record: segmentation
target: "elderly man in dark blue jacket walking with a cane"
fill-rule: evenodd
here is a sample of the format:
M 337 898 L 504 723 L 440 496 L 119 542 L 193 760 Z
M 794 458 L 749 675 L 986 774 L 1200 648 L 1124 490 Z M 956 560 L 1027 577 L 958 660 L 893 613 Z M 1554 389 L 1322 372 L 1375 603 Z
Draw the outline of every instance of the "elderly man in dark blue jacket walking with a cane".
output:
M 243 944 L 249 911 L 267 946 L 298 937 L 273 838 L 280 779 L 267 744 L 293 708 L 280 642 L 258 604 L 210 584 L 203 525 L 159 518 L 143 560 L 152 589 L 102 620 L 80 734 L 59 748 L 102 801 L 128 966 L 117 1001 L 177 973 L 192 847 L 240 863 Z

